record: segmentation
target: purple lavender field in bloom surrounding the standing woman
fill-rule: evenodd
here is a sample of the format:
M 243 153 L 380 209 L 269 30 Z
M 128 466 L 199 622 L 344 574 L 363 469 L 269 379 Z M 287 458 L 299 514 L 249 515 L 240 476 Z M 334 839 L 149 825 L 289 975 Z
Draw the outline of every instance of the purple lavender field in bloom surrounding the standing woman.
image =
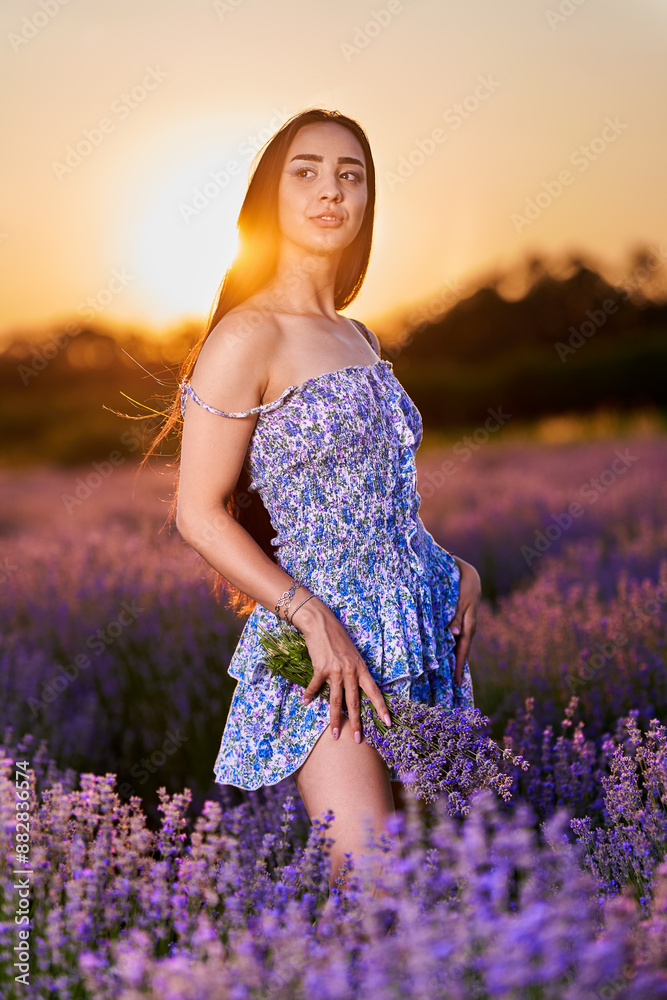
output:
M 330 900 L 291 781 L 213 784 L 243 623 L 160 531 L 172 471 L 0 473 L 0 995 L 667 998 L 667 436 L 500 437 L 424 447 L 421 514 L 480 572 L 476 704 L 530 767 L 461 818 L 408 796 L 377 891 L 369 854 Z

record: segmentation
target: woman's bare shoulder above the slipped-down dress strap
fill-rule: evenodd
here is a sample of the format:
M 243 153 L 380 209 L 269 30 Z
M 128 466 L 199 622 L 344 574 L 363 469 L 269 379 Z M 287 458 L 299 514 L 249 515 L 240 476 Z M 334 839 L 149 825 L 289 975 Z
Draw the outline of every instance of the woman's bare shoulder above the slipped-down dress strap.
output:
M 277 325 L 270 313 L 243 303 L 216 323 L 197 357 L 192 386 L 212 406 L 246 410 L 265 391 Z

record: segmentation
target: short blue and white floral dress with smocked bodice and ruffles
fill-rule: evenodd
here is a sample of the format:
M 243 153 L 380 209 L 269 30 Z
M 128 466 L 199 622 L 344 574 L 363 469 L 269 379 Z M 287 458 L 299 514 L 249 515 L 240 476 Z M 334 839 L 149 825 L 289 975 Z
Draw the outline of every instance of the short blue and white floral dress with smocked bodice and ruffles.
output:
M 278 563 L 333 611 L 380 690 L 448 710 L 473 707 L 467 660 L 461 686 L 454 682 L 448 628 L 460 571 L 419 517 L 422 421 L 392 363 L 325 372 L 240 412 L 209 406 L 188 382 L 180 388 L 183 413 L 189 396 L 220 416 L 258 414 L 249 490 L 270 515 Z M 325 697 L 303 705 L 303 688 L 264 665 L 260 624 L 281 627 L 260 604 L 245 622 L 214 766 L 217 783 L 244 789 L 293 774 L 329 725 Z

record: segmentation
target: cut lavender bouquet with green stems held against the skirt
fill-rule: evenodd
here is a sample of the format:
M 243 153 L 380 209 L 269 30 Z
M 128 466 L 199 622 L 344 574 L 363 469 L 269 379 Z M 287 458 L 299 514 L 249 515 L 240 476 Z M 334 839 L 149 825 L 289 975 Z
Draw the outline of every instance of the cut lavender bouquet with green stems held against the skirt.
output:
M 267 668 L 293 684 L 305 688 L 313 677 L 313 664 L 306 640 L 293 626 L 281 624 L 278 634 L 259 626 L 260 641 L 269 656 Z M 322 697 L 329 698 L 323 684 Z M 360 714 L 367 742 L 380 753 L 388 768 L 395 768 L 401 781 L 418 799 L 432 802 L 447 796 L 450 815 L 466 815 L 468 802 L 480 788 L 493 788 L 504 799 L 511 798 L 512 776 L 499 769 L 511 760 L 523 770 L 523 757 L 482 735 L 489 719 L 478 708 L 448 712 L 409 698 L 383 692 L 391 726 L 378 716 L 365 691 L 360 691 Z

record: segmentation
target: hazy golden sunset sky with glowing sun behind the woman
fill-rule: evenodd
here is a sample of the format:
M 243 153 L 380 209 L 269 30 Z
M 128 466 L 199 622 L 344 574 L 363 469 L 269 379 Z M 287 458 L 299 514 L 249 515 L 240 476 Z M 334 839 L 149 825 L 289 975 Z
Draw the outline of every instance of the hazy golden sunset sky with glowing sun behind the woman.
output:
M 528 254 L 667 254 L 665 0 L 3 0 L 0 45 L 4 339 L 205 318 L 308 107 L 373 151 L 364 322 Z

